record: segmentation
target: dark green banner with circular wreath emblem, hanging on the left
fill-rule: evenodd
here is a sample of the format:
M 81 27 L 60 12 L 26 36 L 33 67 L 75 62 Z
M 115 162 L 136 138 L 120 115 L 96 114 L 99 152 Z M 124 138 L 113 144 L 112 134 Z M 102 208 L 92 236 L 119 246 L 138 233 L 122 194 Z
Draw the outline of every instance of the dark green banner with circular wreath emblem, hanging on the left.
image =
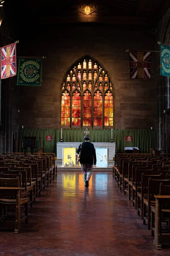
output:
M 41 86 L 42 58 L 19 58 L 17 85 Z

